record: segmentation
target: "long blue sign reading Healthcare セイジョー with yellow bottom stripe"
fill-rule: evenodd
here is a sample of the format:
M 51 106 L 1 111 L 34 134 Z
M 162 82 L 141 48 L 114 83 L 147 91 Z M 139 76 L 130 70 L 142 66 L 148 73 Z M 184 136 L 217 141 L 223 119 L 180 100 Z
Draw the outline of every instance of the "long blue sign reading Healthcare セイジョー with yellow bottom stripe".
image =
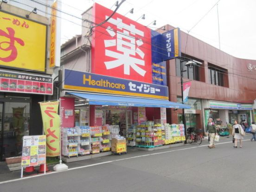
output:
M 167 86 L 68 69 L 64 70 L 63 89 L 168 100 Z

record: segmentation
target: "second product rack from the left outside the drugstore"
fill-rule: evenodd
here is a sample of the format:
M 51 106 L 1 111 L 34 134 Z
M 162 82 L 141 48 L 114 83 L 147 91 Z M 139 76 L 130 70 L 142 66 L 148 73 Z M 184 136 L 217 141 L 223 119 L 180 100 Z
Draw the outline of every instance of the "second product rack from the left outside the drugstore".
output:
M 90 127 L 80 126 L 80 145 L 78 147 L 78 154 L 86 155 L 90 154 Z

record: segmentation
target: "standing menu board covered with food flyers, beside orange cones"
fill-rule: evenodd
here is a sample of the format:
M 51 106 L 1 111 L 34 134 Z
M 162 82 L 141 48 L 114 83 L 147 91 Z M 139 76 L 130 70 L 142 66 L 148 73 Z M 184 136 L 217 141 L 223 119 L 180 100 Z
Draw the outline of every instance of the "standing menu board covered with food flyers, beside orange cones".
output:
M 46 135 L 23 137 L 21 167 L 46 163 Z

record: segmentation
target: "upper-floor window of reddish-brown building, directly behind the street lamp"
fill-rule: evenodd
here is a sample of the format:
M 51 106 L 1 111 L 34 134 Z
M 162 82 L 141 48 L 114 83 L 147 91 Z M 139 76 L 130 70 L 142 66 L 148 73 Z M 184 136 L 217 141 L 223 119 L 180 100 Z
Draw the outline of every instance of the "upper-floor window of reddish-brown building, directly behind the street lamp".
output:
M 187 79 L 191 79 L 191 80 L 196 80 L 196 81 L 200 81 L 200 76 L 199 76 L 199 67 L 197 65 L 192 65 L 192 67 L 187 67 L 185 66 L 186 62 L 183 62 L 183 70 L 186 70 L 183 72 L 183 77 L 187 78 Z M 176 75 L 177 76 L 181 76 L 181 72 L 180 72 L 180 59 L 176 59 Z

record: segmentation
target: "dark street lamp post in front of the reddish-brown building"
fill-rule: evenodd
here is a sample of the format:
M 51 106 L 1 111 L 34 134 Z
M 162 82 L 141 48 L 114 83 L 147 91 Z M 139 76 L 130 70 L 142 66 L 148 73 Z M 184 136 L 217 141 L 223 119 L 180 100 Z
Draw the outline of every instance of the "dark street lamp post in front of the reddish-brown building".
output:
M 188 58 L 179 58 L 180 59 L 180 84 L 181 84 L 181 101 L 182 104 L 184 104 L 184 99 L 183 99 L 183 72 L 184 70 L 184 65 L 183 63 L 186 62 L 185 66 L 187 67 L 192 67 L 194 64 L 196 64 L 193 60 L 188 59 Z M 185 134 L 185 141 L 184 144 L 187 143 L 187 136 L 186 136 L 186 116 L 185 116 L 185 109 L 182 109 L 182 123 L 184 125 L 184 134 Z

